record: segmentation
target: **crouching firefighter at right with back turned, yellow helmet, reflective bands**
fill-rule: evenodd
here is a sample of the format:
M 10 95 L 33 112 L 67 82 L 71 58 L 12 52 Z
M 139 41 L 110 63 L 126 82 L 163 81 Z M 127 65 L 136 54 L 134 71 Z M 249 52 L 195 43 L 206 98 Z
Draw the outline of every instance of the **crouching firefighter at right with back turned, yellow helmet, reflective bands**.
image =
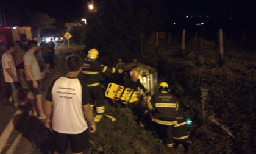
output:
M 188 144 L 191 143 L 188 141 L 189 132 L 179 108 L 179 101 L 174 95 L 168 93 L 168 83 L 161 82 L 158 93 L 152 96 L 143 107 L 146 107 L 149 114 L 141 119 L 141 127 L 145 126 L 146 117 L 150 117 L 149 121 L 159 125 L 164 131 L 166 147 L 173 147 L 176 141 L 188 150 Z

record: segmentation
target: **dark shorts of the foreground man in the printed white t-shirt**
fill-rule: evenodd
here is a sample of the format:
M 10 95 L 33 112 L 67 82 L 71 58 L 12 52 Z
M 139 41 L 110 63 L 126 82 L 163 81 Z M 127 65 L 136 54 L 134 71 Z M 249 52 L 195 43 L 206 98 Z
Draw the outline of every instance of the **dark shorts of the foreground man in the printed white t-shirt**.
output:
M 88 149 L 88 147 L 90 147 L 88 129 L 80 134 L 63 134 L 54 131 L 54 150 L 56 150 L 58 153 L 66 152 L 68 141 L 70 141 L 72 152 L 84 152 Z

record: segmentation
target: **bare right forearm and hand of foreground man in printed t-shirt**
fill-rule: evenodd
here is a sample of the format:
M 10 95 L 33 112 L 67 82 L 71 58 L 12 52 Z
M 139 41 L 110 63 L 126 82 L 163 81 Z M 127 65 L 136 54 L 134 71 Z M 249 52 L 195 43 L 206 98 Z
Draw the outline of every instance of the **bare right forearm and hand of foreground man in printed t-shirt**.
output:
M 93 110 L 91 110 L 90 104 L 87 103 L 87 105 L 83 105 L 83 111 L 85 119 L 87 119 L 89 125 L 90 125 L 90 132 L 94 133 L 96 131 L 96 124 L 94 122 L 93 118 Z

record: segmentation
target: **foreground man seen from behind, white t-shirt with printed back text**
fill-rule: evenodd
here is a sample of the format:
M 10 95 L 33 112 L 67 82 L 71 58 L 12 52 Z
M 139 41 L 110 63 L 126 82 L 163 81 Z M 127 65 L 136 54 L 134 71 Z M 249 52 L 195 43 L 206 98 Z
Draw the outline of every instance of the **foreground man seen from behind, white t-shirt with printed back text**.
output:
M 93 100 L 83 80 L 77 78 L 82 64 L 77 55 L 67 57 L 68 73 L 54 80 L 46 94 L 46 127 L 54 130 L 54 153 L 65 153 L 68 141 L 73 153 L 83 153 L 89 147 L 88 130 L 96 131 L 90 107 Z

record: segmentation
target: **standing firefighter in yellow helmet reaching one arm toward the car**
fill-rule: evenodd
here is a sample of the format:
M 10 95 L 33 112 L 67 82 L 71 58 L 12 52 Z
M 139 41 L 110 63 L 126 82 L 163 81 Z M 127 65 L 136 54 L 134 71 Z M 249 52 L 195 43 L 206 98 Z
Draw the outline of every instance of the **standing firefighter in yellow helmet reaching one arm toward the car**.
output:
M 102 115 L 105 113 L 105 97 L 102 88 L 99 86 L 99 74 L 113 74 L 116 72 L 123 73 L 122 69 L 116 69 L 105 65 L 100 65 L 97 61 L 98 55 L 99 51 L 97 49 L 90 49 L 90 51 L 88 51 L 87 58 L 85 58 L 84 60 L 82 69 L 85 83 L 87 83 L 94 103 L 96 100 L 96 116 L 94 117 L 95 122 L 101 121 Z M 91 104 L 90 106 L 91 108 L 93 108 L 94 104 Z

